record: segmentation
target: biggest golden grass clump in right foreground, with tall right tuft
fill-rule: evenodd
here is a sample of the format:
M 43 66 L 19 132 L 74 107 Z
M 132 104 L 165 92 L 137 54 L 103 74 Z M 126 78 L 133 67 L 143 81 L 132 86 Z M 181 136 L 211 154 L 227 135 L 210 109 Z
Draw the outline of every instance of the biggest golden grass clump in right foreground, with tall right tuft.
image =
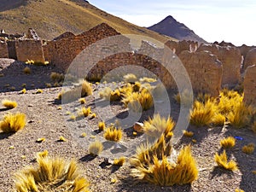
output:
M 149 183 L 172 186 L 192 183 L 198 177 L 198 170 L 190 147 L 187 146 L 180 151 L 177 163 L 170 162 L 165 155 L 161 159 L 154 155 L 153 162 L 133 169 L 132 174 Z

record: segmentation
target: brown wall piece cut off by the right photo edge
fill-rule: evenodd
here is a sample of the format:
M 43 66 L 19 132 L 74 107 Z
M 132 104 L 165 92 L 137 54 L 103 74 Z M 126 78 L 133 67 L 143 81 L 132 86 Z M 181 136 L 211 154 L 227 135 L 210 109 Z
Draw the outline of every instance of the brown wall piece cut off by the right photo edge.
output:
M 244 79 L 244 102 L 256 107 L 256 66 L 247 67 Z

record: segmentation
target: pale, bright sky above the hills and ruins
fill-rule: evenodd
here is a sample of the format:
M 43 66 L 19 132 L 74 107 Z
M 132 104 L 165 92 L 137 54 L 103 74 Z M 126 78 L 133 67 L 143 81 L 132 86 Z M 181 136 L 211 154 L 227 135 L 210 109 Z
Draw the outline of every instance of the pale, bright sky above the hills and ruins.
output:
M 208 42 L 256 45 L 256 0 L 89 2 L 138 26 L 152 26 L 172 15 Z

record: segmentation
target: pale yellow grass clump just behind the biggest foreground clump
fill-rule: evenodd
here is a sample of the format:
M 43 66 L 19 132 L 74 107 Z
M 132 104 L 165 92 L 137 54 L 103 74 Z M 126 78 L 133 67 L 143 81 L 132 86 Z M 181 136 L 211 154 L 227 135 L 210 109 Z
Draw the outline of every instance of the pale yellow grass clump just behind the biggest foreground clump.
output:
M 148 137 L 159 138 L 162 133 L 166 136 L 169 132 L 172 132 L 174 125 L 175 123 L 171 117 L 166 119 L 161 117 L 160 114 L 154 114 L 153 119 L 149 118 L 143 122 L 143 132 Z

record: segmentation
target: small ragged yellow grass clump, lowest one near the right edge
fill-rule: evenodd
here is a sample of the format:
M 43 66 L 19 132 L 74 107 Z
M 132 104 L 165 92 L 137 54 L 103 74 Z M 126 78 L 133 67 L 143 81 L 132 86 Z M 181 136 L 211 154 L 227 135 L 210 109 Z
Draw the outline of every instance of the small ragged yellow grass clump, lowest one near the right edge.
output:
M 214 160 L 218 164 L 219 167 L 222 167 L 222 168 L 224 168 L 226 170 L 230 170 L 230 171 L 237 170 L 236 162 L 234 160 L 228 161 L 228 157 L 227 157 L 225 150 L 222 154 L 215 154 Z

